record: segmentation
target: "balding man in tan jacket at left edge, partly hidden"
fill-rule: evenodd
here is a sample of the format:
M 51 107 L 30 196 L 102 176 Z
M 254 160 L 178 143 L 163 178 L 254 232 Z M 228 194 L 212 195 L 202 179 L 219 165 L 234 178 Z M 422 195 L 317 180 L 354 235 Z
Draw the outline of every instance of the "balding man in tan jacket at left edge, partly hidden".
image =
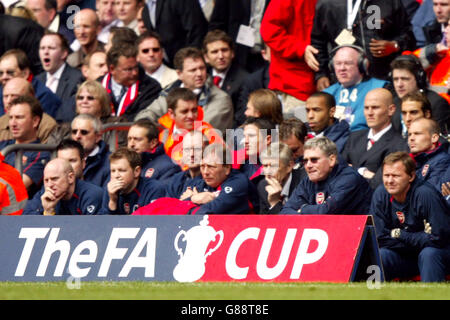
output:
M 12 100 L 19 96 L 34 96 L 34 89 L 31 83 L 23 78 L 12 78 L 8 80 L 3 88 L 3 105 L 5 114 L 0 117 L 0 141 L 12 139 L 9 131 L 8 110 Z M 38 127 L 37 136 L 42 143 L 46 143 L 50 133 L 57 126 L 56 121 L 47 113 L 42 115 L 41 123 Z

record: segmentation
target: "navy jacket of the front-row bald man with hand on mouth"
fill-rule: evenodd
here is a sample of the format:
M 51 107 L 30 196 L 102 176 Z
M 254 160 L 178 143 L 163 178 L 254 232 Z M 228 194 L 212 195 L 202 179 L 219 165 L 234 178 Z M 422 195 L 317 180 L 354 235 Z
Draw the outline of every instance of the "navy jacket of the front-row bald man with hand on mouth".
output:
M 23 215 L 44 213 L 41 196 L 44 187 L 28 200 Z M 57 215 L 86 215 L 98 214 L 102 207 L 103 189 L 83 180 L 76 180 L 75 192 L 69 200 L 60 200 L 56 205 Z

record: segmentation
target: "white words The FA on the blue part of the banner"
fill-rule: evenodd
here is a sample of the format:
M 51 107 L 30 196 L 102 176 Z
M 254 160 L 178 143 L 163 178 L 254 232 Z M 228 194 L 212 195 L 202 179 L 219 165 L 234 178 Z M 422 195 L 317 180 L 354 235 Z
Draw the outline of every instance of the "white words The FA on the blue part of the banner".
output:
M 50 233 L 49 233 L 50 231 Z M 73 278 L 86 277 L 91 271 L 92 266 L 81 268 L 80 263 L 95 263 L 98 256 L 98 245 L 94 240 L 85 240 L 78 244 L 70 252 L 70 242 L 68 240 L 58 240 L 60 228 L 22 228 L 19 233 L 19 238 L 26 239 L 22 254 L 17 264 L 15 276 L 23 277 L 30 261 L 31 254 L 37 239 L 44 239 L 49 234 L 45 243 L 44 251 L 41 255 L 39 267 L 37 268 L 36 276 L 44 277 L 47 273 L 48 265 L 55 253 L 57 253 L 56 268 L 53 272 L 54 277 L 62 277 L 67 261 L 68 272 Z M 120 239 L 135 239 L 139 233 L 140 228 L 113 228 L 108 245 L 103 256 L 99 277 L 106 277 L 108 275 L 111 262 L 114 259 L 122 260 L 128 248 L 119 248 L 118 242 Z M 156 257 L 156 228 L 146 228 L 139 238 L 133 251 L 127 261 L 125 261 L 119 277 L 127 277 L 133 268 L 144 268 L 145 277 L 154 277 L 155 274 L 155 257 Z M 144 251 L 144 248 L 146 249 Z M 141 255 L 142 252 L 144 255 Z M 70 257 L 70 259 L 69 259 Z

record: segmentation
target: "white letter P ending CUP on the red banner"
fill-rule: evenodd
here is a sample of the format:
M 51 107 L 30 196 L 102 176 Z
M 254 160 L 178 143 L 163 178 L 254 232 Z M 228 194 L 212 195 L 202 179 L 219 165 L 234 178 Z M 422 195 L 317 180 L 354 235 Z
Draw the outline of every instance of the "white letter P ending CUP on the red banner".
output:
M 308 253 L 308 247 L 312 240 L 319 242 L 314 252 Z M 299 279 L 302 273 L 303 265 L 311 264 L 320 260 L 327 251 L 328 234 L 321 229 L 305 229 L 303 231 L 302 240 L 295 257 L 294 266 L 292 267 L 291 279 Z

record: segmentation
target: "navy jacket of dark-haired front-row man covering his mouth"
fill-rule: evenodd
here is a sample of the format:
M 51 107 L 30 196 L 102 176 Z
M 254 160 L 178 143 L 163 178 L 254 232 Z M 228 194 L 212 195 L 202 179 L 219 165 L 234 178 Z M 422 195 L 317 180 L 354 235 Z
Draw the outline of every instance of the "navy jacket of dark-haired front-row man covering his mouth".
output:
M 117 210 L 109 210 L 109 194 L 105 187 L 103 191 L 103 207 L 102 214 L 131 214 L 138 208 L 143 207 L 150 202 L 162 198 L 165 195 L 164 185 L 158 180 L 139 178 L 139 182 L 132 192 L 129 194 L 119 195 L 117 201 Z

